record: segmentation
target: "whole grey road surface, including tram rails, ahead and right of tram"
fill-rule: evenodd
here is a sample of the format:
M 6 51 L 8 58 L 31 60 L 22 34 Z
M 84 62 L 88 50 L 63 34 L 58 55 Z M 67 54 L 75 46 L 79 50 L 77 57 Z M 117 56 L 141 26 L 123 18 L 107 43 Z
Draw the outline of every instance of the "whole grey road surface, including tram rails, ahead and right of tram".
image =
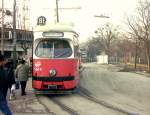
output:
M 76 93 L 38 96 L 54 115 L 150 115 L 150 78 L 113 65 L 83 67 Z

